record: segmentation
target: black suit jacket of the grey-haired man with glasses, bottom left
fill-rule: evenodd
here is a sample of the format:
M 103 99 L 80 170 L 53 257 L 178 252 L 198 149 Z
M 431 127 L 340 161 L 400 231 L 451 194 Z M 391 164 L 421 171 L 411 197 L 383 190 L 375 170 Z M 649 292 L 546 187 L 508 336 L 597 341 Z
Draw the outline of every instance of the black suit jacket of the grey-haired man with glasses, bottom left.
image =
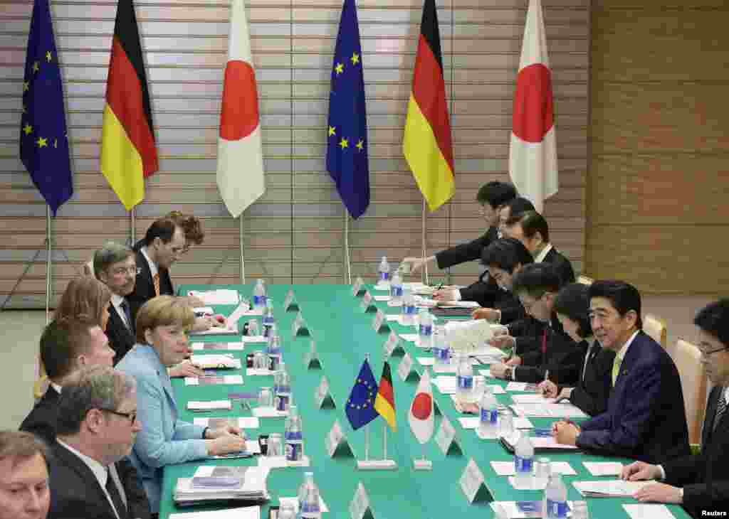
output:
M 48 519 L 116 519 L 104 489 L 87 464 L 58 442 L 52 445 Z M 117 461 L 117 473 L 127 496 L 130 519 L 149 519 L 147 494 L 132 464 Z

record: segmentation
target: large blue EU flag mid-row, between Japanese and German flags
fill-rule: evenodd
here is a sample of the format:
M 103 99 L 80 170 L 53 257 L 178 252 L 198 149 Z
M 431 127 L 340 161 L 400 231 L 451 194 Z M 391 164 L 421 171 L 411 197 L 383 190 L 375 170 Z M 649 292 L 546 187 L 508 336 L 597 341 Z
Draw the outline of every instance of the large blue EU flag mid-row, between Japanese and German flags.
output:
M 359 23 L 354 0 L 345 0 L 332 64 L 327 171 L 352 218 L 359 218 L 370 205 L 368 160 Z

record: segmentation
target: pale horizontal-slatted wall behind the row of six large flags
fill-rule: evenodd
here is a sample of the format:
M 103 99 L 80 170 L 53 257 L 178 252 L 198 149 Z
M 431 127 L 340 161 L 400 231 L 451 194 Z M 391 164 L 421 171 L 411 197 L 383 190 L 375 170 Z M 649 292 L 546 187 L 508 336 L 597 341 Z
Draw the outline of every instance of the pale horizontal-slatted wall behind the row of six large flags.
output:
M 137 232 L 179 209 L 203 218 L 205 243 L 174 267 L 174 280 L 236 282 L 238 226 L 215 183 L 226 1 L 136 0 L 161 156 L 138 208 Z M 558 118 L 561 188 L 546 204 L 553 241 L 581 270 L 587 170 L 589 0 L 544 0 Z M 343 207 L 324 169 L 329 77 L 341 4 L 249 0 L 260 90 L 267 191 L 245 213 L 246 274 L 269 282 L 341 282 Z M 478 187 L 507 179 L 510 114 L 526 0 L 438 2 L 456 155 L 456 196 L 429 214 L 429 252 L 483 232 Z M 0 3 L 0 301 L 42 246 L 44 205 L 17 159 L 20 92 L 32 2 Z M 128 218 L 98 173 L 101 111 L 116 3 L 53 0 L 66 87 L 76 195 L 55 221 L 55 290 Z M 351 223 L 354 274 L 373 277 L 379 256 L 421 248 L 421 195 L 402 159 L 402 127 L 421 0 L 358 4 L 370 132 L 372 204 Z M 67 257 L 66 257 L 67 256 Z M 9 306 L 44 303 L 44 255 Z M 477 264 L 453 269 L 469 282 Z

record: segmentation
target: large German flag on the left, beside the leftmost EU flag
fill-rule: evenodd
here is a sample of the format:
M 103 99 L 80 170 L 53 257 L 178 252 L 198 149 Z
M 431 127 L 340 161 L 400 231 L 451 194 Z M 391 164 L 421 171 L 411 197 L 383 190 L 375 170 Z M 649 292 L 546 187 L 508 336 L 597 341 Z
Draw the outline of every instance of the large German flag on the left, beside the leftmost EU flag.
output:
M 134 4 L 132 0 L 119 0 L 106 80 L 101 173 L 130 210 L 144 199 L 144 178 L 158 169 Z

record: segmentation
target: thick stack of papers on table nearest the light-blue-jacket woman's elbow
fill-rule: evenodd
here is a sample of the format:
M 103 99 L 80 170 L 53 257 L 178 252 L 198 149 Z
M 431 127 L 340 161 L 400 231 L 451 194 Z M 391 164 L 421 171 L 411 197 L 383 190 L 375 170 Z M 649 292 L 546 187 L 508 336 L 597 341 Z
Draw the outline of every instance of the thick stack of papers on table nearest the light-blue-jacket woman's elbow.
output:
M 176 504 L 221 500 L 261 502 L 268 499 L 268 472 L 260 467 L 198 467 L 192 478 L 179 478 L 174 489 Z

